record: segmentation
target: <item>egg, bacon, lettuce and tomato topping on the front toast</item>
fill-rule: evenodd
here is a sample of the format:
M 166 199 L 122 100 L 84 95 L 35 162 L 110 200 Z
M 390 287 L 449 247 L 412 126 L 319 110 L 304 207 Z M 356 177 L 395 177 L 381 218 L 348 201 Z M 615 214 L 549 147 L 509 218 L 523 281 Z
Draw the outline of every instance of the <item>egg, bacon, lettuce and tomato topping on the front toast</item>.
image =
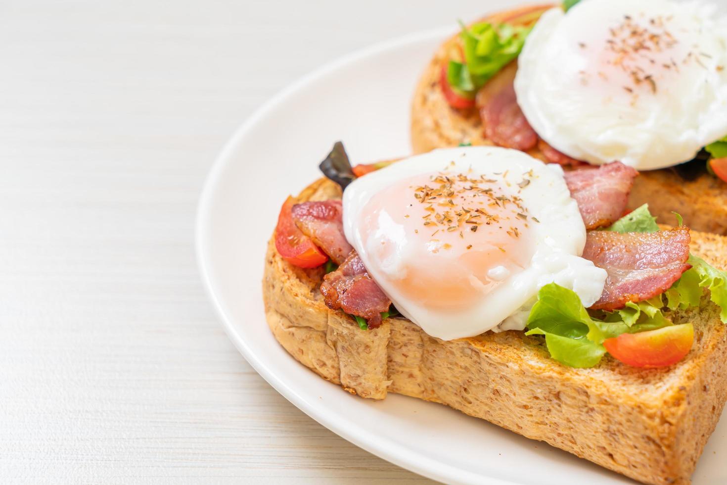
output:
M 654 342 L 686 349 L 679 358 L 691 348 L 672 311 L 708 295 L 727 322 L 727 273 L 689 254 L 681 221 L 662 231 L 646 206 L 618 217 L 637 175 L 623 164 L 564 174 L 519 151 L 478 147 L 342 169 L 340 151 L 332 155 L 321 167 L 328 174 L 336 158 L 337 180 L 368 175 L 344 177 L 343 201 L 284 206 L 276 247 L 301 265 L 292 225 L 294 244 L 330 257 L 324 301 L 361 329 L 401 313 L 444 340 L 526 330 L 577 367 L 638 337 L 648 358 L 637 361 L 659 366 L 674 353 Z M 666 337 L 649 337 L 656 331 Z

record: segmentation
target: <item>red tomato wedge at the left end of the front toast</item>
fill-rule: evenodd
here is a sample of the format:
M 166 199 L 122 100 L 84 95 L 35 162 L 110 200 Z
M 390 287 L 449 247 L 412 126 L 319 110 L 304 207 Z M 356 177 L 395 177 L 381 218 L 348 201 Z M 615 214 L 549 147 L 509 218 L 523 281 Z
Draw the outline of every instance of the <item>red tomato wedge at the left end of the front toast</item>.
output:
M 275 246 L 284 260 L 299 268 L 316 268 L 328 261 L 328 256 L 318 249 L 293 222 L 291 209 L 295 199 L 288 197 L 280 209 L 275 230 Z

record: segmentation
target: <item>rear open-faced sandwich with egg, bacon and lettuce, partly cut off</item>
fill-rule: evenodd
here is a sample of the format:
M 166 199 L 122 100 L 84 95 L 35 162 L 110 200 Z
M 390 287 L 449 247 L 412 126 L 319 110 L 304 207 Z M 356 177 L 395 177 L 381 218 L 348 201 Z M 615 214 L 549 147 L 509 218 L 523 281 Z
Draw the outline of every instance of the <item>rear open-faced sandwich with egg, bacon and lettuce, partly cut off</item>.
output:
M 642 171 L 630 209 L 727 234 L 727 17 L 675 0 L 567 0 L 462 25 L 427 65 L 415 153 L 499 145 Z

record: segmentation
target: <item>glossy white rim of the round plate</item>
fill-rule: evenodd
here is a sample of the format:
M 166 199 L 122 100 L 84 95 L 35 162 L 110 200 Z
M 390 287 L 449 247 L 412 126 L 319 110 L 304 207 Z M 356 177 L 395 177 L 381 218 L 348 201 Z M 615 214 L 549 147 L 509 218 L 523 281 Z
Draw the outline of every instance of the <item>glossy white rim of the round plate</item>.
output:
M 233 325 L 231 316 L 225 311 L 225 305 L 217 297 L 215 292 L 216 286 L 212 281 L 210 274 L 210 268 L 212 262 L 209 259 L 209 248 L 206 241 L 206 228 L 207 228 L 207 215 L 212 210 L 215 189 L 219 183 L 220 177 L 225 167 L 230 164 L 230 158 L 236 153 L 238 145 L 241 140 L 245 137 L 246 133 L 252 130 L 260 119 L 263 119 L 270 111 L 273 111 L 279 105 L 286 102 L 286 100 L 294 95 L 295 92 L 303 89 L 309 84 L 313 84 L 318 79 L 326 76 L 327 74 L 337 71 L 340 68 L 344 68 L 347 65 L 356 63 L 366 57 L 375 57 L 389 49 L 395 49 L 397 47 L 403 47 L 407 44 L 414 44 L 419 41 L 445 39 L 446 36 L 451 35 L 453 29 L 451 27 L 438 27 L 427 29 L 425 31 L 418 31 L 409 33 L 404 36 L 398 36 L 393 39 L 386 41 L 377 42 L 371 44 L 369 47 L 363 49 L 357 49 L 350 52 L 347 55 L 337 57 L 329 63 L 322 65 L 319 68 L 305 74 L 304 76 L 289 84 L 284 89 L 281 89 L 276 95 L 270 97 L 265 103 L 258 107 L 252 115 L 250 115 L 238 128 L 233 132 L 233 135 L 223 145 L 222 150 L 217 154 L 209 169 L 208 175 L 204 181 L 202 191 L 200 193 L 198 204 L 195 215 L 195 255 L 198 271 L 201 276 L 201 281 L 204 286 L 207 297 L 212 306 L 214 307 L 217 318 L 220 319 L 225 333 L 228 338 L 233 342 L 233 345 L 242 354 L 245 360 L 252 366 L 252 368 L 260 374 L 260 376 L 268 382 L 278 393 L 284 398 L 290 401 L 294 406 L 300 409 L 302 412 L 307 414 L 318 424 L 324 426 L 324 428 L 331 430 L 338 436 L 341 436 L 346 441 L 355 444 L 356 446 L 365 449 L 367 452 L 376 455 L 382 460 L 398 465 L 401 468 L 405 468 L 419 475 L 427 478 L 432 478 L 437 481 L 446 481 L 449 483 L 465 483 L 465 484 L 488 484 L 488 485 L 519 485 L 519 482 L 503 480 L 502 478 L 495 478 L 492 476 L 483 476 L 478 473 L 472 473 L 467 470 L 462 470 L 454 465 L 449 465 L 445 462 L 439 462 L 431 460 L 427 455 L 420 452 L 411 451 L 406 446 L 396 444 L 387 438 L 381 438 L 380 436 L 372 436 L 366 428 L 356 426 L 356 428 L 350 428 L 342 426 L 327 420 L 324 412 L 316 409 L 316 406 L 309 406 L 305 402 L 305 399 L 301 398 L 297 392 L 286 382 L 281 379 L 273 372 L 268 371 L 265 363 L 256 356 L 254 350 L 246 345 L 244 339 L 238 336 L 235 326 Z M 355 430 L 352 432 L 352 430 Z M 375 440 L 375 441 L 374 441 Z M 376 442 L 374 446 L 371 443 Z

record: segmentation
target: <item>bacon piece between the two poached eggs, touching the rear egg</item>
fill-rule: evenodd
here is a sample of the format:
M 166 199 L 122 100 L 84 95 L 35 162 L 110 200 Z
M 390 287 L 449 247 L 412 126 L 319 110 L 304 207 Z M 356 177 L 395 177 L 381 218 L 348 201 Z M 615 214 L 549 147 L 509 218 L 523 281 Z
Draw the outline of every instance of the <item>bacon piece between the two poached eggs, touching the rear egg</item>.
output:
M 620 161 L 566 172 L 566 184 L 587 229 L 609 225 L 623 215 L 636 175 Z

